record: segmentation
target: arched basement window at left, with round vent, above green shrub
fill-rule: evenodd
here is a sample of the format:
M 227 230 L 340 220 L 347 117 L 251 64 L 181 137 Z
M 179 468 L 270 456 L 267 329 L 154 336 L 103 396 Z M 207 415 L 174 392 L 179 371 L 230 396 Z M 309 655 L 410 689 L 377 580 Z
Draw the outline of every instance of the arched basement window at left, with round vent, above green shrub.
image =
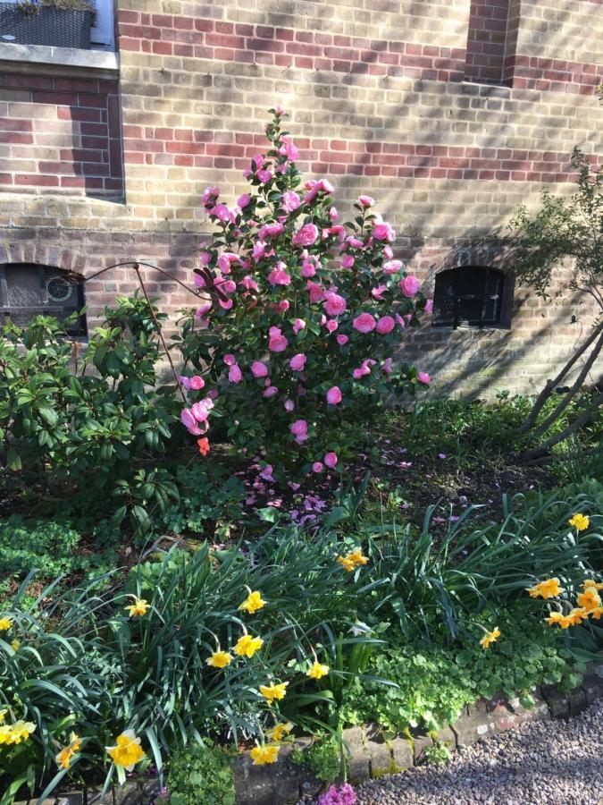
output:
M 0 323 L 11 319 L 24 325 L 38 315 L 63 319 L 83 307 L 83 283 L 62 268 L 32 263 L 0 265 Z M 86 335 L 86 317 L 78 317 L 66 332 Z

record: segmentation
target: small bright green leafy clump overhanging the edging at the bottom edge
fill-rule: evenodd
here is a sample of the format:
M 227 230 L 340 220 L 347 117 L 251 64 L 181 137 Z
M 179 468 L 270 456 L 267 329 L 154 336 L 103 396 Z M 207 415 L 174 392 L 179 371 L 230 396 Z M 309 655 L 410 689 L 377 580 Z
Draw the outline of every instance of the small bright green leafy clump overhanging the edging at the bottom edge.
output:
M 234 805 L 234 776 L 226 753 L 208 743 L 188 744 L 170 758 L 172 805 Z

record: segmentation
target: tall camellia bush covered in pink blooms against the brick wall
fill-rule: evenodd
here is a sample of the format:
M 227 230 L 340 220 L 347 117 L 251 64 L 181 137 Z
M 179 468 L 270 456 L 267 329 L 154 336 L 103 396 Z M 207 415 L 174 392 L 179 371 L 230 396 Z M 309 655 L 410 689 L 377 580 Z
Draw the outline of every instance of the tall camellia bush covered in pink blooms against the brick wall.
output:
M 217 187 L 203 194 L 215 233 L 178 340 L 182 422 L 197 436 L 219 419 L 235 451 L 290 481 L 345 470 L 373 412 L 427 388 L 429 375 L 398 353 L 431 301 L 394 258 L 396 234 L 375 201 L 359 196 L 340 223 L 331 182 L 303 182 L 283 113 L 271 113 L 271 148 L 251 158 L 249 191 L 231 207 Z

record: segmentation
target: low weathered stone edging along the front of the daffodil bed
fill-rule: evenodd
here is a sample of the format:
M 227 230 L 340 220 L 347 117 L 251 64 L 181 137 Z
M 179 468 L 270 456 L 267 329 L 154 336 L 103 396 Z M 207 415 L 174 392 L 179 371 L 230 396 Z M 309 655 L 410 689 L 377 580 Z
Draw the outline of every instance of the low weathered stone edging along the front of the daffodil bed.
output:
M 564 695 L 555 686 L 543 686 L 533 695 L 534 707 L 526 709 L 518 699 L 505 699 L 502 695 L 493 699 L 478 699 L 465 708 L 465 712 L 438 733 L 437 739 L 445 741 L 448 748 L 459 750 L 490 735 L 504 733 L 519 724 L 530 721 L 551 720 L 577 716 L 595 699 L 603 698 L 603 664 L 590 665 L 582 684 L 569 695 Z M 398 736 L 386 740 L 377 724 L 365 724 L 344 730 L 344 740 L 349 751 L 349 779 L 353 784 L 369 778 L 398 774 L 415 766 L 423 759 L 426 747 L 432 745 L 430 735 L 417 734 Z M 300 796 L 315 795 L 322 783 L 306 767 L 291 761 L 296 749 L 304 750 L 312 742 L 299 738 L 281 748 L 278 761 L 271 766 L 254 766 L 248 752 L 242 752 L 232 761 L 238 805 L 295 805 Z M 109 793 L 105 800 L 100 791 L 88 789 L 88 799 L 82 792 L 63 794 L 43 802 L 29 800 L 16 805 L 150 805 L 158 793 L 155 781 L 128 783 Z

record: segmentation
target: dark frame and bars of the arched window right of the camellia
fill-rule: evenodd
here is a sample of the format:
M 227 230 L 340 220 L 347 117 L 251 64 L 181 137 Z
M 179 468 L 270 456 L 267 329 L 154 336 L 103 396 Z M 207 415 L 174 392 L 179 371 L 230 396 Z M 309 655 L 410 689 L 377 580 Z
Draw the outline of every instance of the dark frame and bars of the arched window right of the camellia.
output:
M 482 292 L 476 293 L 459 293 L 456 292 L 455 283 L 456 279 L 462 275 L 462 272 L 468 269 L 480 269 L 482 271 L 482 282 L 481 282 L 481 289 Z M 450 274 L 449 280 L 452 284 L 453 288 L 453 295 L 454 295 L 454 307 L 453 307 L 453 317 L 452 323 L 450 323 L 449 319 L 446 321 L 439 322 L 437 320 L 437 309 L 436 309 L 436 300 L 437 300 L 437 291 L 436 287 L 438 284 L 439 277 L 442 275 Z M 490 280 L 490 275 L 494 274 L 498 281 L 500 282 L 500 291 L 498 293 L 488 293 L 488 285 Z M 466 328 L 471 330 L 484 330 L 484 329 L 495 329 L 495 330 L 507 330 L 511 327 L 511 318 L 513 313 L 513 292 L 514 292 L 514 281 L 512 275 L 507 274 L 507 272 L 502 271 L 500 268 L 491 267 L 488 265 L 480 265 L 478 263 L 471 263 L 463 266 L 454 266 L 448 267 L 444 270 L 440 271 L 435 276 L 435 285 L 434 285 L 434 292 L 433 292 L 433 302 L 434 302 L 434 310 L 433 310 L 433 322 L 432 326 L 434 327 L 448 327 L 452 330 L 457 330 L 459 328 Z M 480 310 L 480 318 L 479 321 L 474 324 L 470 323 L 468 317 L 463 317 L 462 313 L 459 311 L 459 308 L 463 301 L 479 301 L 482 300 L 482 309 Z M 483 318 L 486 313 L 486 305 L 488 301 L 491 300 L 498 300 L 498 316 L 494 321 L 487 320 L 484 321 Z

